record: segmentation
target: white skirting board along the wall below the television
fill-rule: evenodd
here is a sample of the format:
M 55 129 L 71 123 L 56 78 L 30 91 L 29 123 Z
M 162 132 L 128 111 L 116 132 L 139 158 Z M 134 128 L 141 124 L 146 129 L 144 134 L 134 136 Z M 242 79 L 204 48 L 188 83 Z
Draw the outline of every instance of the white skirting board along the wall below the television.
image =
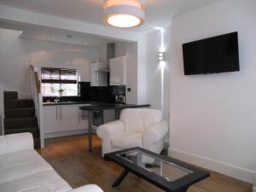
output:
M 195 166 L 201 166 L 213 172 L 219 172 L 224 175 L 237 178 L 247 183 L 253 183 L 256 172 L 244 169 L 240 166 L 234 166 L 222 161 L 212 160 L 207 157 L 202 157 L 197 154 L 180 151 L 174 148 L 168 148 L 168 155 L 177 160 L 183 160 Z

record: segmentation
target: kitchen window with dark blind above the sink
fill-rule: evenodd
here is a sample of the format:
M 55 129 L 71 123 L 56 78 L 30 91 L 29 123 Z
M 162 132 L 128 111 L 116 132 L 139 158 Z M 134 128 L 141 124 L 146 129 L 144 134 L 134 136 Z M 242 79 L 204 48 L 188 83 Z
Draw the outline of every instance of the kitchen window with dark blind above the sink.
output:
M 78 72 L 67 68 L 41 68 L 44 96 L 78 96 Z

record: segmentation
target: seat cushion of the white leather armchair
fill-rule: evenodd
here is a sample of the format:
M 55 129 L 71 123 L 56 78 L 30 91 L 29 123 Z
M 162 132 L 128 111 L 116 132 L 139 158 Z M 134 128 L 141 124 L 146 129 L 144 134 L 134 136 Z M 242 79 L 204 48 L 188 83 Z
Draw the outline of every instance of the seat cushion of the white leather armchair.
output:
M 142 133 L 137 132 L 124 132 L 110 139 L 112 148 L 133 148 L 142 147 Z

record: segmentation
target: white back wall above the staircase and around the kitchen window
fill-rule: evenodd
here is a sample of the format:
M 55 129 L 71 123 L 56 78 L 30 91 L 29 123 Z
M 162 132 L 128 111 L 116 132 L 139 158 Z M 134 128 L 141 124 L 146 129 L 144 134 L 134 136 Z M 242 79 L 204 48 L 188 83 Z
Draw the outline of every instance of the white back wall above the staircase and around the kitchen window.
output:
M 81 81 L 90 81 L 90 61 L 104 60 L 103 48 L 82 47 L 49 41 L 19 38 L 20 32 L 0 29 L 0 81 L 5 90 L 17 90 L 28 97 L 29 63 L 38 67 L 73 67 L 81 73 Z

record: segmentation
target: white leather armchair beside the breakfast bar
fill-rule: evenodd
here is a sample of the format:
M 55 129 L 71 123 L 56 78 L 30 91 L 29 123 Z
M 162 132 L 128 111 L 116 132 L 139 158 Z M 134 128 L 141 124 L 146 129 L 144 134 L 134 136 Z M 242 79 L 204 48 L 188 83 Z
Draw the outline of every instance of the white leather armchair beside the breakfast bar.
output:
M 102 157 L 132 147 L 160 154 L 167 132 L 168 125 L 159 110 L 126 108 L 122 110 L 119 120 L 99 126 L 97 136 L 102 138 Z

